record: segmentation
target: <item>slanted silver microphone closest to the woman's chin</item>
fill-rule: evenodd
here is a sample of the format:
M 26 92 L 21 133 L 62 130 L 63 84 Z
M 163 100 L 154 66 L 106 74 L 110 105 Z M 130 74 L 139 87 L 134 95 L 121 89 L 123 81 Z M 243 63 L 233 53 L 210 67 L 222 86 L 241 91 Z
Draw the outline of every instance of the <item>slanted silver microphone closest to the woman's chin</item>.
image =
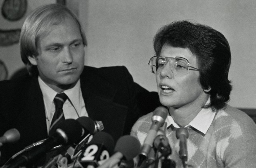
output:
M 168 110 L 163 106 L 157 107 L 154 110 L 152 116 L 152 125 L 142 145 L 138 166 L 140 166 L 141 162 L 148 156 L 148 153 L 153 146 L 154 139 L 156 138 L 158 129 L 164 125 L 167 114 Z

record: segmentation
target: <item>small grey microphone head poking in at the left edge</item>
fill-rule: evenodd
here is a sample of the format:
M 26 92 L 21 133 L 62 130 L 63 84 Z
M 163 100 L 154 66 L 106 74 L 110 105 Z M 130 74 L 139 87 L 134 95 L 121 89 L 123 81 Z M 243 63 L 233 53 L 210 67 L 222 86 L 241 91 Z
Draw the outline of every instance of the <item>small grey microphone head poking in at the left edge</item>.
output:
M 16 143 L 20 140 L 20 132 L 15 129 L 9 129 L 4 133 L 2 137 L 0 137 L 0 143 Z

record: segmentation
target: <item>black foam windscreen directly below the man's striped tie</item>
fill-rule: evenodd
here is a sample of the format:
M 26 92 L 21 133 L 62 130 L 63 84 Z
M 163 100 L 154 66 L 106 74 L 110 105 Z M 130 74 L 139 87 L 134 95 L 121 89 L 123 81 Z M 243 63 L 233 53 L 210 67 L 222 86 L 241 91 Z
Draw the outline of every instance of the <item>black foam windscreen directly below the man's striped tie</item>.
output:
M 82 126 L 78 121 L 76 121 L 75 119 L 66 119 L 57 125 L 56 129 L 58 128 L 64 131 L 64 133 L 66 134 L 68 138 L 67 144 L 79 143 L 83 130 Z

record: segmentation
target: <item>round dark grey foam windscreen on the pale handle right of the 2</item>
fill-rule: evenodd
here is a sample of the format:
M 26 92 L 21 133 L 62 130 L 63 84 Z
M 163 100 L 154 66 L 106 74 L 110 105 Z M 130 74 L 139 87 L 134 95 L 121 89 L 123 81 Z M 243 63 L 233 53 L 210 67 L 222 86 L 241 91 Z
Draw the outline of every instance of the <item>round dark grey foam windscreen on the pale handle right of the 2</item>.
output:
M 135 137 L 124 135 L 116 142 L 114 152 L 121 152 L 126 160 L 131 160 L 140 152 L 140 142 Z

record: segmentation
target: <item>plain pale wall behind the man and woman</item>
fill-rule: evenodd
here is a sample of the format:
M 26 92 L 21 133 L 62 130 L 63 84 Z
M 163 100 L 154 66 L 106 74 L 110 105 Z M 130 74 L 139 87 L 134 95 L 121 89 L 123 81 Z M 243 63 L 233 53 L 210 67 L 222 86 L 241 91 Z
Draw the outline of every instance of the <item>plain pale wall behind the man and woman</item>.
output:
M 2 5 L 3 0 L 0 2 Z M 54 2 L 28 0 L 28 12 Z M 154 56 L 156 31 L 175 20 L 213 27 L 228 39 L 232 53 L 229 79 L 234 88 L 229 104 L 256 108 L 255 0 L 67 0 L 67 6 L 78 14 L 86 32 L 85 64 L 124 65 L 134 81 L 150 91 L 156 91 L 155 76 L 148 67 Z M 22 20 L 8 24 L 1 21 L 0 29 L 21 25 Z M 23 66 L 18 44 L 0 47 L 0 59 L 8 66 L 9 76 Z

